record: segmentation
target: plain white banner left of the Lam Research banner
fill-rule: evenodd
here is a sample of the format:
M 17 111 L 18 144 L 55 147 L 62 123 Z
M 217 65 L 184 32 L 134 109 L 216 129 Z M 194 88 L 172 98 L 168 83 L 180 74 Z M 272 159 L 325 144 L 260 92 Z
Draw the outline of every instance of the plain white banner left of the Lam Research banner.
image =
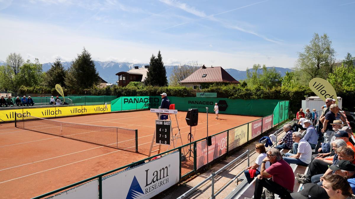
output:
M 91 182 L 82 184 L 75 188 L 69 189 L 60 194 L 54 195 L 51 198 L 55 199 L 77 199 L 77 198 L 86 198 L 86 199 L 98 199 L 99 198 L 99 180 L 93 180 Z

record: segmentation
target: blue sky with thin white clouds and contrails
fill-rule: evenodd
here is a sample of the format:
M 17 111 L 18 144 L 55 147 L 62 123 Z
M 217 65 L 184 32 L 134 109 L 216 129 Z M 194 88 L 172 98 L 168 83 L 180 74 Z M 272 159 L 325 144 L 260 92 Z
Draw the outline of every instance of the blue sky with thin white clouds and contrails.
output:
M 0 59 L 291 68 L 314 33 L 355 56 L 355 0 L 0 0 Z

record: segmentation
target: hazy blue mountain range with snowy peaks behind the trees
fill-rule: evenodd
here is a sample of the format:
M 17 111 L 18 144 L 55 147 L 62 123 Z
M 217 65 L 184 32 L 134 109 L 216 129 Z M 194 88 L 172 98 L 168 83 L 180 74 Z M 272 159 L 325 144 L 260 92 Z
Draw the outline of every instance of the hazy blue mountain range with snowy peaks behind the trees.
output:
M 68 69 L 70 67 L 72 62 L 62 62 L 62 65 L 65 69 Z M 113 83 L 116 84 L 116 81 L 118 80 L 118 76 L 115 74 L 118 72 L 122 71 L 128 71 L 135 66 L 138 67 L 144 67 L 145 65 L 149 65 L 148 63 L 142 63 L 142 64 L 133 64 L 133 63 L 128 63 L 128 62 L 113 62 L 113 61 L 94 61 L 96 70 L 99 73 L 100 77 L 107 81 L 108 83 Z M 4 61 L 0 60 L 0 66 L 6 64 Z M 42 69 L 43 71 L 47 71 L 50 69 L 51 65 L 53 63 L 44 63 L 42 64 Z M 165 66 L 166 69 L 166 76 L 169 80 L 170 74 L 173 71 L 173 68 L 175 66 Z M 223 68 L 223 67 L 222 67 Z M 281 67 L 267 67 L 267 68 L 275 68 L 277 72 L 281 74 L 281 76 L 285 75 L 285 72 L 291 72 L 293 71 L 290 68 L 281 68 Z M 228 72 L 231 76 L 233 76 L 234 79 L 241 81 L 246 79 L 246 71 L 245 70 L 237 70 L 233 68 L 224 68 L 226 72 Z M 262 73 L 262 70 L 260 70 Z

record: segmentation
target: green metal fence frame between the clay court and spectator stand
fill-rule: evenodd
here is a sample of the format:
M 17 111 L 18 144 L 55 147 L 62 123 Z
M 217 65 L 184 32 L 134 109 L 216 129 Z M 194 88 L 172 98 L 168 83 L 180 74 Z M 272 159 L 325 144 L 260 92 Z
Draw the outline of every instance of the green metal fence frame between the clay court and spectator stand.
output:
M 287 104 L 287 106 L 285 106 L 285 104 Z M 280 107 L 283 107 L 283 109 L 280 109 Z M 280 101 L 277 104 L 277 106 L 275 107 L 273 114 L 271 114 L 271 115 L 267 115 L 267 116 L 264 116 L 263 118 L 259 118 L 257 120 L 251 121 L 249 123 L 242 124 L 242 125 L 233 127 L 231 129 L 228 129 L 228 130 L 225 130 L 225 131 L 222 131 L 222 132 L 219 132 L 219 133 L 215 133 L 214 135 L 211 136 L 212 140 L 213 140 L 213 138 L 217 139 L 220 136 L 223 136 L 223 137 L 226 136 L 226 138 L 227 138 L 226 150 L 225 150 L 224 153 L 219 154 L 218 157 L 214 157 L 212 160 L 209 160 L 208 164 L 209 163 L 213 163 L 214 161 L 220 160 L 220 159 L 224 158 L 225 156 L 228 156 L 229 154 L 233 153 L 235 150 L 239 149 L 244 144 L 247 144 L 250 141 L 256 140 L 257 138 L 260 137 L 260 135 L 262 135 L 265 132 L 268 132 L 274 126 L 277 126 L 277 125 L 283 123 L 284 121 L 288 120 L 288 118 L 289 118 L 288 113 L 289 113 L 289 101 Z M 277 115 L 276 123 L 274 121 L 275 115 Z M 267 120 L 270 120 L 270 119 L 271 119 L 271 124 L 272 125 L 270 127 L 267 127 L 267 128 L 264 127 L 263 128 L 263 123 L 266 122 Z M 251 138 L 249 135 L 252 135 L 252 132 L 251 132 L 252 129 L 249 126 L 251 126 L 252 123 L 257 122 L 259 120 L 261 120 L 261 132 L 260 132 L 259 135 Z M 247 125 L 247 127 L 245 125 Z M 247 129 L 247 131 L 246 132 L 244 131 L 244 135 L 236 135 L 236 132 L 243 132 L 243 131 L 239 131 L 239 129 L 245 129 L 245 128 Z M 245 133 L 247 135 L 245 135 Z M 247 137 L 247 139 L 245 139 L 244 141 L 239 140 L 239 142 L 238 142 L 238 139 L 236 140 L 237 137 Z M 68 186 L 56 189 L 54 191 L 39 195 L 37 197 L 34 197 L 33 199 L 39 199 L 39 198 L 48 197 L 48 196 L 51 196 L 51 195 L 56 194 L 56 193 L 59 194 L 62 191 L 67 191 L 69 189 L 75 188 L 78 185 L 82 185 L 82 184 L 85 184 L 85 183 L 88 183 L 90 181 L 97 180 L 97 179 L 99 181 L 99 187 L 98 187 L 99 195 L 98 195 L 98 198 L 102 199 L 102 197 L 103 197 L 103 192 L 102 192 L 102 179 L 103 179 L 103 177 L 105 177 L 105 176 L 107 176 L 107 175 L 109 175 L 111 173 L 118 172 L 120 170 L 124 170 L 127 167 L 131 167 L 131 166 L 134 167 L 135 165 L 137 165 L 138 163 L 141 163 L 142 161 L 150 160 L 150 159 L 155 158 L 157 156 L 160 156 L 160 155 L 163 155 L 163 154 L 166 154 L 166 153 L 170 153 L 170 152 L 175 152 L 175 151 L 179 151 L 179 154 L 180 154 L 179 180 L 181 181 L 181 179 L 184 179 L 184 178 L 186 178 L 186 177 L 188 177 L 190 175 L 193 175 L 198 170 L 201 170 L 201 169 L 203 169 L 204 167 L 207 166 L 207 164 L 201 163 L 201 161 L 197 159 L 197 156 L 199 156 L 199 152 L 200 152 L 198 150 L 198 147 L 199 146 L 207 146 L 207 139 L 208 139 L 208 137 L 205 137 L 205 138 L 202 138 L 200 140 L 184 144 L 183 146 L 176 147 L 174 149 L 170 149 L 170 150 L 168 150 L 166 152 L 163 152 L 163 153 L 160 153 L 160 154 L 157 154 L 157 155 L 153 155 L 151 157 L 136 161 L 134 163 L 131 163 L 131 164 L 128 164 L 128 165 L 125 165 L 125 166 L 121 166 L 121 167 L 119 167 L 117 169 L 114 169 L 114 170 L 111 170 L 111 171 L 108 171 L 108 172 L 105 172 L 105 173 L 102 173 L 102 174 L 87 178 L 87 179 L 82 180 L 80 182 L 76 182 L 76 183 L 70 184 Z M 237 144 L 235 144 L 236 141 L 237 141 Z M 192 153 L 193 154 L 193 158 L 187 160 L 188 158 L 186 157 L 186 155 L 187 155 L 186 151 L 188 151 L 188 149 L 190 149 L 190 148 L 193 149 L 193 153 Z M 203 165 L 201 166 L 201 164 L 203 164 Z

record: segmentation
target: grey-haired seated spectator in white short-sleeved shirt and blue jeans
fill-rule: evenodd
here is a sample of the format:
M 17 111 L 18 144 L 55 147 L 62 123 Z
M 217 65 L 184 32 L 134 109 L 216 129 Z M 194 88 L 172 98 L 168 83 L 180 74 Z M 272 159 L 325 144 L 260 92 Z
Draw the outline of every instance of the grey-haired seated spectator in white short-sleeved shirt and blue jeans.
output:
M 298 143 L 297 154 L 286 153 L 284 160 L 289 164 L 307 166 L 311 162 L 312 157 L 310 144 L 302 138 L 300 132 L 293 132 L 292 139 Z

